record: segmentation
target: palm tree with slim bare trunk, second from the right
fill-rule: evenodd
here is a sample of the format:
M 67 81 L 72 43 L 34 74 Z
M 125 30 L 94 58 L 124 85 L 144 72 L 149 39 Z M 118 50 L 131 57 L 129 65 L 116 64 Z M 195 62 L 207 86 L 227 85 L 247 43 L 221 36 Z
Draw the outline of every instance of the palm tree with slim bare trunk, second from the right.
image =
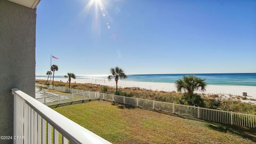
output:
M 110 69 L 111 75 L 108 76 L 108 80 L 110 81 L 112 78 L 116 81 L 116 92 L 117 92 L 117 82 L 118 79 L 127 78 L 127 75 L 125 75 L 124 70 L 122 68 L 111 68 Z

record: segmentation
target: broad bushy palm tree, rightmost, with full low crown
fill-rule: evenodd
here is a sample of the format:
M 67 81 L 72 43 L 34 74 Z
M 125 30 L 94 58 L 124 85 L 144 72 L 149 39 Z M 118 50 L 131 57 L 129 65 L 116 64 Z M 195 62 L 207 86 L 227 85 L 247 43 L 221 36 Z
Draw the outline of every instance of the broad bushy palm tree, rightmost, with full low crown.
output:
M 194 91 L 205 91 L 206 82 L 205 78 L 200 78 L 194 75 L 183 76 L 176 82 L 177 91 L 185 91 L 189 97 L 193 97 Z

